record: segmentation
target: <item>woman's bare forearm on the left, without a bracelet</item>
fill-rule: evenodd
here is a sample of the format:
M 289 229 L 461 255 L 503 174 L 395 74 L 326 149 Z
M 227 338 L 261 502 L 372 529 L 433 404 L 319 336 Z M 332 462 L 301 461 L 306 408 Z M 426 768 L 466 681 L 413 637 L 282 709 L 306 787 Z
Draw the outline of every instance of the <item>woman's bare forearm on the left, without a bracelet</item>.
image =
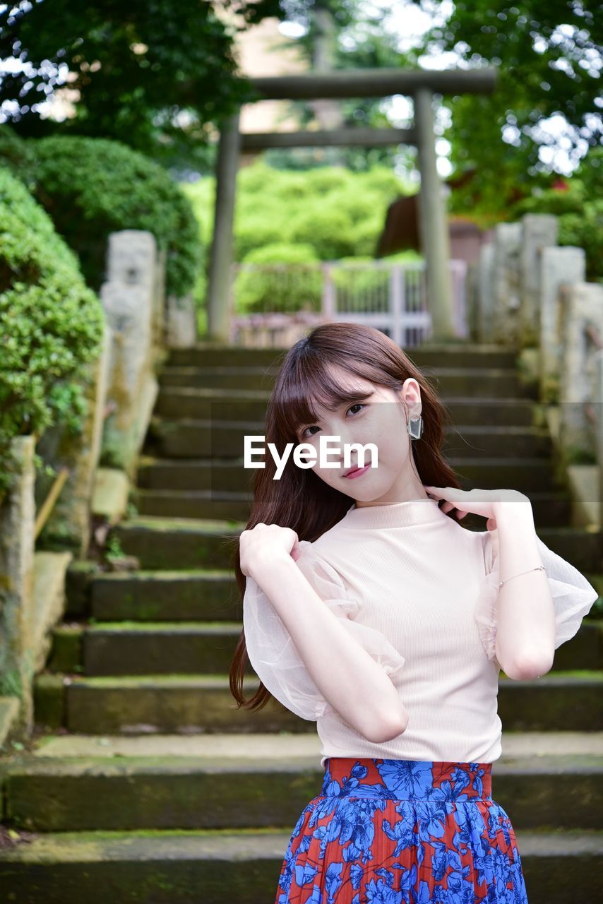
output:
M 293 559 L 273 560 L 252 577 L 319 692 L 348 724 L 376 743 L 406 729 L 408 713 L 387 673 L 325 606 Z

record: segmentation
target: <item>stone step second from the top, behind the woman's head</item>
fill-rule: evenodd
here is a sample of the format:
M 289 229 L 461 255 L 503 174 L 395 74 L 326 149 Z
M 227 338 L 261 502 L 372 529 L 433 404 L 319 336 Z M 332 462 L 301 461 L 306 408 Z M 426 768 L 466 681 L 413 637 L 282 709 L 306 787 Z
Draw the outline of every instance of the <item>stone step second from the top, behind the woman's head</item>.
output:
M 204 365 L 167 366 L 161 373 L 162 390 L 173 388 L 272 390 L 278 367 Z M 427 367 L 423 374 L 438 395 L 518 396 L 521 385 L 514 369 L 485 367 Z

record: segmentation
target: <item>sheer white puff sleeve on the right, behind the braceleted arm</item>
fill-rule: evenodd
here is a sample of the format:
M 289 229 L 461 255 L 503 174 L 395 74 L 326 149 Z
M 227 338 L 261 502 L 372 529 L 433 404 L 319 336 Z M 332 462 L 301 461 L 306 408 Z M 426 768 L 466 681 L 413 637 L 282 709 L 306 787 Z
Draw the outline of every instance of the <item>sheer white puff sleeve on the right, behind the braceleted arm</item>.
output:
M 485 578 L 477 598 L 475 616 L 479 636 L 488 659 L 502 668 L 495 654 L 497 602 L 500 569 L 498 562 L 498 530 L 482 533 L 484 542 Z M 537 535 L 542 564 L 549 579 L 555 612 L 555 649 L 570 640 L 579 629 L 582 618 L 598 598 L 597 590 L 570 562 L 553 552 Z

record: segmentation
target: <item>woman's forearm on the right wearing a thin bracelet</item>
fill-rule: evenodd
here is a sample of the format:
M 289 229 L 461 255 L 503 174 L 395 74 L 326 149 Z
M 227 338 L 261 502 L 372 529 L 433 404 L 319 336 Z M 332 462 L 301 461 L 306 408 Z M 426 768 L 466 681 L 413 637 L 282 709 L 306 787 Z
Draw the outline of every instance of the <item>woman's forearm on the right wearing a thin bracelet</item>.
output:
M 555 615 L 542 565 L 532 505 L 501 504 L 496 513 L 500 580 L 496 658 L 510 678 L 537 678 L 551 669 Z M 520 574 L 527 571 L 527 574 Z

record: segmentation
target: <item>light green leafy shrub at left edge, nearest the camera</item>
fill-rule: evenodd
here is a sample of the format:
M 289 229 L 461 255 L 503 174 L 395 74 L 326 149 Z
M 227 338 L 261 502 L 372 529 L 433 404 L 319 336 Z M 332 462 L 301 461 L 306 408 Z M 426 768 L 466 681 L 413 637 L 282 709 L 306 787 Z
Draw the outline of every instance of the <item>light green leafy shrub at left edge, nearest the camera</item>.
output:
M 39 438 L 55 423 L 80 430 L 84 365 L 99 355 L 104 323 L 75 254 L 0 168 L 0 494 L 13 481 L 14 437 Z

